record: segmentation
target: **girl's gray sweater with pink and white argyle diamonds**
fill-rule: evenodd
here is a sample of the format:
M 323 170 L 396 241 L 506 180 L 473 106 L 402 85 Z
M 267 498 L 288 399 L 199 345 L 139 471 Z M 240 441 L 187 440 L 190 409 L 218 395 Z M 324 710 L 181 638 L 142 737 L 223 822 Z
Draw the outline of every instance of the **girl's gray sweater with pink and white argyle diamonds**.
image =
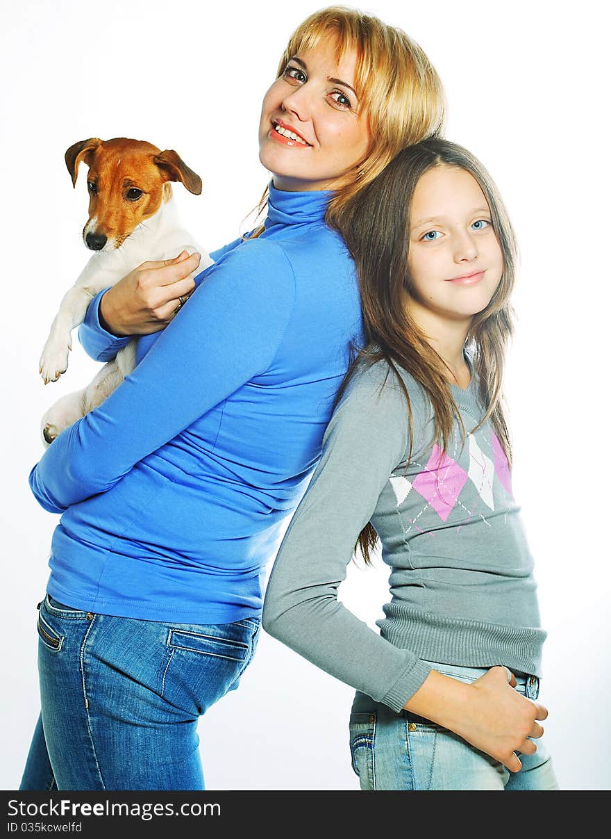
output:
M 395 711 L 427 678 L 426 660 L 541 675 L 546 637 L 505 453 L 489 422 L 474 430 L 484 415 L 474 377 L 466 390 L 451 386 L 468 433 L 463 445 L 455 422 L 443 455 L 432 445 L 430 402 L 401 377 L 410 461 L 395 374 L 386 362 L 360 369 L 329 422 L 263 609 L 268 633 Z M 369 521 L 391 568 L 381 634 L 337 599 Z

